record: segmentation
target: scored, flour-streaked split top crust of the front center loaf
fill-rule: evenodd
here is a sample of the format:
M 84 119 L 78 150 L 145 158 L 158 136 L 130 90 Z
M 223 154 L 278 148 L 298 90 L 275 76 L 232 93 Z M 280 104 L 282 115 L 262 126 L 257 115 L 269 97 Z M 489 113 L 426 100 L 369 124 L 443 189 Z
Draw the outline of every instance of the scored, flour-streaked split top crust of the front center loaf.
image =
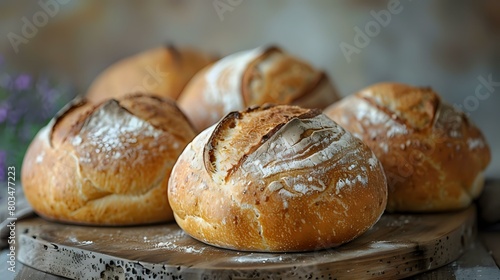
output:
M 320 173 L 335 167 L 332 160 L 344 163 L 359 156 L 360 147 L 351 145 L 353 141 L 320 110 L 254 107 L 228 114 L 218 123 L 205 145 L 204 165 L 218 183 L 227 183 L 238 172 L 271 180 L 268 187 L 275 191 L 284 186 L 292 193 L 311 188 L 324 190 L 330 180 L 328 176 L 322 179 Z M 377 163 L 374 156 L 369 159 L 370 167 Z M 337 178 L 339 188 L 345 182 L 366 183 L 366 168 L 351 170 L 357 175 Z M 291 171 L 298 174 L 282 174 Z

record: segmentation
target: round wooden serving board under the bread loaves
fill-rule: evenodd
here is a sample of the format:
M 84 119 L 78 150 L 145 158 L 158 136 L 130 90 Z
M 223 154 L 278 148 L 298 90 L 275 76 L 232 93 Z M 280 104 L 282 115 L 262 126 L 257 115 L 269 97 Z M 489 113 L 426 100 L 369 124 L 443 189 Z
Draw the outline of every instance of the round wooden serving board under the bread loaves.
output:
M 18 223 L 18 258 L 79 279 L 401 279 L 457 259 L 475 238 L 475 219 L 474 206 L 443 214 L 385 214 L 340 247 L 274 254 L 212 247 L 175 223 L 88 227 L 32 218 Z

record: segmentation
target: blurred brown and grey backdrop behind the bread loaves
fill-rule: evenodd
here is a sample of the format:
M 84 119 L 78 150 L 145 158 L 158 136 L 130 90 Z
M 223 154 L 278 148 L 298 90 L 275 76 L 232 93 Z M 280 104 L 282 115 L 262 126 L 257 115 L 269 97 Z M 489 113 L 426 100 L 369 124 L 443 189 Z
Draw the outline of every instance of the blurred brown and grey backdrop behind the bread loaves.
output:
M 500 1 L 0 1 L 0 181 L 38 129 L 113 62 L 163 44 L 224 56 L 277 45 L 342 95 L 431 86 L 486 135 L 500 178 Z M 18 177 L 19 178 L 19 177 Z

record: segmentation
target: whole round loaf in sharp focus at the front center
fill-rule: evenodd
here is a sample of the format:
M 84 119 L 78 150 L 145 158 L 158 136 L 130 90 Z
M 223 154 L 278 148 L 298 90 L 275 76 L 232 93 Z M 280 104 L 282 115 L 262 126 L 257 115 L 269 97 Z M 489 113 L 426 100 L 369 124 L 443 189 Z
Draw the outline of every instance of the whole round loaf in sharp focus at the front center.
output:
M 321 111 L 232 112 L 183 151 L 169 181 L 179 226 L 215 246 L 304 251 L 348 242 L 384 212 L 372 151 Z

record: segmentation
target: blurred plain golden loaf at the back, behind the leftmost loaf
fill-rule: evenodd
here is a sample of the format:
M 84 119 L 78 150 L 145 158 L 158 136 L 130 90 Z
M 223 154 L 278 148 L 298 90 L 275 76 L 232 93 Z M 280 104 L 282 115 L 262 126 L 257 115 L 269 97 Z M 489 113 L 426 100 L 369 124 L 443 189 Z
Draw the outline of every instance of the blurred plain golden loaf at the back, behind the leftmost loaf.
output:
M 138 92 L 177 99 L 196 72 L 214 60 L 189 48 L 147 50 L 105 69 L 90 86 L 87 99 L 99 103 Z

